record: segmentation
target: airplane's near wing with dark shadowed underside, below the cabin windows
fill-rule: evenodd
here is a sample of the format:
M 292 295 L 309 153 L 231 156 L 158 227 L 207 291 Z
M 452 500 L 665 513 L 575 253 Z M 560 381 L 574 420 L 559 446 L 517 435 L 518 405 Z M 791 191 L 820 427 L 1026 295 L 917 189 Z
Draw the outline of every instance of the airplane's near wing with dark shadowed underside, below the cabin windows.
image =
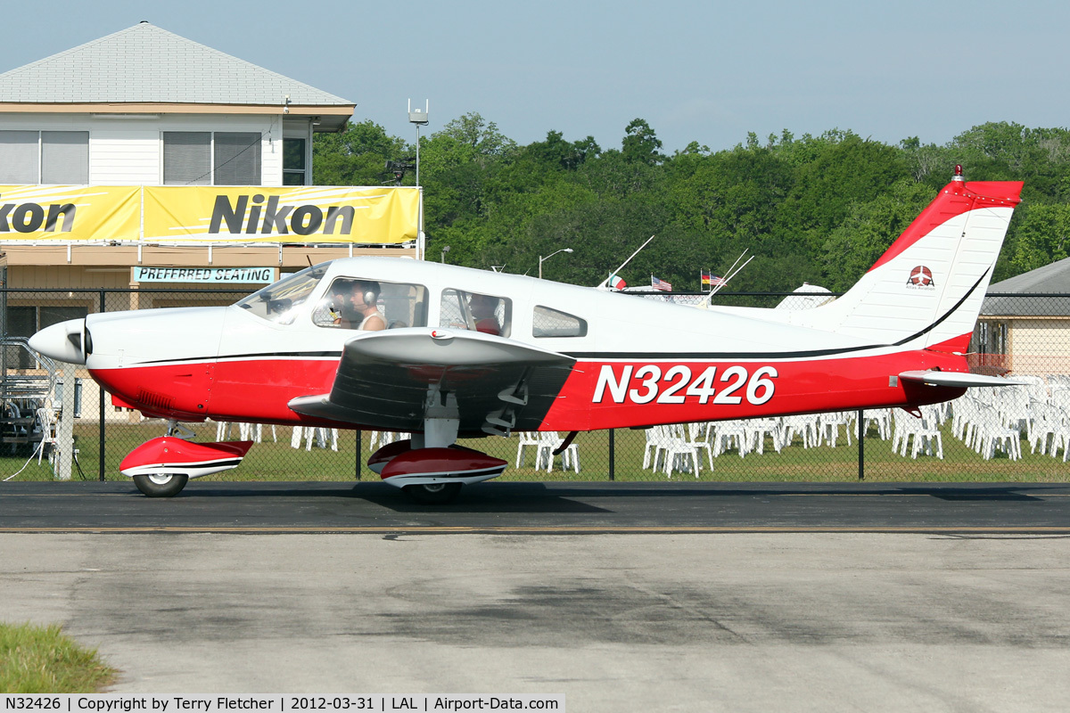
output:
M 423 431 L 429 415 L 457 418 L 461 436 L 534 431 L 575 363 L 478 331 L 370 331 L 346 342 L 330 393 L 289 405 L 299 414 L 383 431 Z

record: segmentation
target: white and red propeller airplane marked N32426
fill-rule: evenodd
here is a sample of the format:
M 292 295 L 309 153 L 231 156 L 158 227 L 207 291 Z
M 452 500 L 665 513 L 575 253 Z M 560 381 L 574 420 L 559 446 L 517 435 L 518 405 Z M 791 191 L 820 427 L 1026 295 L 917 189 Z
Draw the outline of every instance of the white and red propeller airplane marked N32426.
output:
M 369 467 L 448 501 L 506 462 L 459 437 L 902 406 L 1008 384 L 964 353 L 1018 182 L 954 179 L 845 295 L 807 310 L 710 307 L 433 262 L 350 258 L 229 307 L 90 314 L 30 345 L 116 403 L 168 419 L 120 466 L 150 496 L 236 466 L 248 441 L 182 421 L 412 433 Z

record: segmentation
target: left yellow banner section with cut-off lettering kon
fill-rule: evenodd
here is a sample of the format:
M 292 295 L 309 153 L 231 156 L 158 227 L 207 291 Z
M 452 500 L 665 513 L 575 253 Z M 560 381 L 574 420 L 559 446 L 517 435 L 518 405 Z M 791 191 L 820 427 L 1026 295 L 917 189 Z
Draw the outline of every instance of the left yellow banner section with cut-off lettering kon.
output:
M 136 241 L 139 186 L 0 186 L 2 241 Z

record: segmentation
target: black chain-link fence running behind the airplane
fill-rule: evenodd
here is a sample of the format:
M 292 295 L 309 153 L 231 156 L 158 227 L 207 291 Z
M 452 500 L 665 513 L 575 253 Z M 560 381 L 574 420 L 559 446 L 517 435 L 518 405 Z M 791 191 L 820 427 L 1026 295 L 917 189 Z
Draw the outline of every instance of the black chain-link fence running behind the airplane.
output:
M 61 392 L 26 339 L 92 312 L 229 305 L 248 294 L 224 290 L 0 291 L 0 480 L 55 478 L 52 436 Z M 702 295 L 651 298 L 696 304 Z M 805 296 L 804 296 L 805 297 Z M 825 299 L 828 295 L 815 296 Z M 638 297 L 637 297 L 638 298 Z M 717 305 L 775 307 L 797 294 L 720 293 Z M 692 423 L 567 434 L 514 433 L 462 445 L 505 459 L 504 480 L 593 481 L 1061 481 L 1070 474 L 1070 295 L 989 295 L 970 345 L 970 367 L 1025 386 L 972 389 L 948 404 L 902 409 Z M 74 374 L 75 479 L 122 480 L 119 463 L 167 424 L 123 409 L 83 370 Z M 397 438 L 379 432 L 250 423 L 192 424 L 200 441 L 257 443 L 235 470 L 210 480 L 378 478 L 363 466 Z M 556 455 L 554 450 L 561 450 Z M 20 470 L 21 468 L 21 470 Z

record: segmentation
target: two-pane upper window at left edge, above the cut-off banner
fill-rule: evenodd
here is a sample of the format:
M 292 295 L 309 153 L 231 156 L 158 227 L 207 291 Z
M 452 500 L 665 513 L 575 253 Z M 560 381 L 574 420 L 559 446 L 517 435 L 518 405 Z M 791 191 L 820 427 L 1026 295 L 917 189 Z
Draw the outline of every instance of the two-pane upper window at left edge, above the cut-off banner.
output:
M 0 184 L 89 183 L 89 131 L 0 131 Z

